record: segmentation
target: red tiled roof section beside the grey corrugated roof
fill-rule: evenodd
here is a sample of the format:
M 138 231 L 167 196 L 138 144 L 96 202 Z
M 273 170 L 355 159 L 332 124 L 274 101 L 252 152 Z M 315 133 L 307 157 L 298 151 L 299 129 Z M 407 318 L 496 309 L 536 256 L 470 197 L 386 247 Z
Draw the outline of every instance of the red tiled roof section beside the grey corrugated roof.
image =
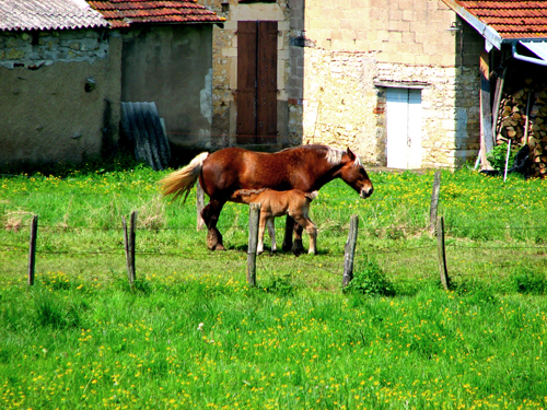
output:
M 135 23 L 222 23 L 225 19 L 187 1 L 88 0 L 113 27 L 129 27 Z

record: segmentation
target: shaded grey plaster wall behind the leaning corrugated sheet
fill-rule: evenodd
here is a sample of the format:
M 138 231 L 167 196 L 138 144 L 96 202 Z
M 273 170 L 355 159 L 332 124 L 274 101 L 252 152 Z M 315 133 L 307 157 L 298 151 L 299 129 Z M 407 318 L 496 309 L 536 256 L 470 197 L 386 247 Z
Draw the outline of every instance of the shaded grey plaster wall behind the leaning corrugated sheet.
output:
M 175 149 L 209 149 L 211 25 L 152 26 L 123 38 L 121 101 L 154 102 Z

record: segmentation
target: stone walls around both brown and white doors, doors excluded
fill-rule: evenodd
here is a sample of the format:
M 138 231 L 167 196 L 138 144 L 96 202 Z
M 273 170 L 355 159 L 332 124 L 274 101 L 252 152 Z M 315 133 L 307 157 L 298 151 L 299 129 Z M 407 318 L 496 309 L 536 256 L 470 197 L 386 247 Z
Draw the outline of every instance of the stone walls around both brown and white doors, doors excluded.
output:
M 386 87 L 420 87 L 422 166 L 454 167 L 477 154 L 484 39 L 442 1 L 208 1 L 228 19 L 213 33 L 216 148 L 234 143 L 235 30 L 245 15 L 280 21 L 278 101 L 287 102 L 286 138 L 280 132 L 284 145 L 350 147 L 365 162 L 385 165 Z

